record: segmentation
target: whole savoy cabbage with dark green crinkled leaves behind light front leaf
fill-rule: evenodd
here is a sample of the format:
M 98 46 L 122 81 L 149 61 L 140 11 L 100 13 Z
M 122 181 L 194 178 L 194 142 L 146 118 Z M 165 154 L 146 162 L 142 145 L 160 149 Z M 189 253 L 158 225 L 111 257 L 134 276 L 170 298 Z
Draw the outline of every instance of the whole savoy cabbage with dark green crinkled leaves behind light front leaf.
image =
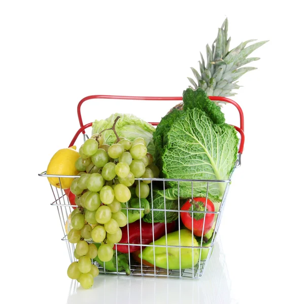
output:
M 154 133 L 155 157 L 163 177 L 228 179 L 238 156 L 237 131 L 223 123 L 219 106 L 202 89 L 185 90 L 183 101 L 182 113 L 175 110 L 163 117 Z M 161 128 L 162 124 L 165 127 Z M 178 182 L 167 185 L 177 195 Z M 209 198 L 220 201 L 225 187 L 223 182 L 210 182 L 209 187 L 207 182 L 180 182 L 178 191 L 182 198 L 206 197 L 208 188 Z

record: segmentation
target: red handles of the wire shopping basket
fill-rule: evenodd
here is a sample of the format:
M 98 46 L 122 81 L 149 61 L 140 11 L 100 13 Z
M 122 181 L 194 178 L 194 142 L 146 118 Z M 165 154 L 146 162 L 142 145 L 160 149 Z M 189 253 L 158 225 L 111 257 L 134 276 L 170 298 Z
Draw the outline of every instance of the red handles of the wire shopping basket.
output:
M 240 115 L 240 128 L 239 127 L 235 127 L 235 129 L 240 133 L 241 135 L 241 141 L 240 141 L 240 147 L 239 147 L 239 153 L 243 153 L 243 147 L 244 147 L 244 115 L 243 115 L 243 111 L 242 108 L 240 107 L 240 105 L 229 99 L 226 97 L 221 97 L 221 96 L 209 96 L 209 98 L 211 100 L 217 100 L 217 101 L 223 101 L 223 102 L 227 102 L 227 103 L 231 103 L 232 105 L 234 105 L 238 111 L 239 111 L 239 115 Z M 83 134 L 85 134 L 85 129 L 88 127 L 92 126 L 92 123 L 89 123 L 87 125 L 83 125 L 83 121 L 82 121 L 82 116 L 81 116 L 81 105 L 83 104 L 84 101 L 89 100 L 89 99 L 126 99 L 126 100 L 180 100 L 182 101 L 182 97 L 148 97 L 148 96 L 116 96 L 116 95 L 90 95 L 87 97 L 84 97 L 82 100 L 80 100 L 80 102 L 78 103 L 77 106 L 77 113 L 78 113 L 78 119 L 79 119 L 79 123 L 80 123 L 80 129 L 78 130 L 78 132 L 76 133 L 76 135 L 74 136 L 73 140 L 70 143 L 70 146 L 74 145 L 76 139 L 78 138 L 79 134 L 82 132 Z M 153 126 L 158 125 L 158 123 L 150 123 Z

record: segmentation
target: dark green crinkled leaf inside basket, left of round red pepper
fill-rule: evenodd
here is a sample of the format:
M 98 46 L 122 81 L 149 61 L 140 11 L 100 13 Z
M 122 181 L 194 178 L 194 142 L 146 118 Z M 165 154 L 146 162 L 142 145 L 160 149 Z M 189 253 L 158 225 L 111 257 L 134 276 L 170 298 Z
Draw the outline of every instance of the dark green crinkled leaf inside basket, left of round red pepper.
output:
M 176 196 L 172 189 L 165 189 L 165 200 L 164 200 L 164 191 L 163 190 L 153 190 L 153 200 L 151 199 L 151 194 L 148 197 L 150 206 L 152 209 L 166 209 L 166 210 L 178 210 L 178 196 Z M 153 203 L 152 203 L 153 202 Z M 182 203 L 180 201 L 180 208 Z M 165 208 L 164 208 L 165 207 Z M 166 213 L 166 223 L 170 223 L 176 220 L 179 216 L 178 212 L 173 211 L 150 211 L 143 217 L 143 220 L 148 223 L 163 223 L 165 222 L 165 213 Z

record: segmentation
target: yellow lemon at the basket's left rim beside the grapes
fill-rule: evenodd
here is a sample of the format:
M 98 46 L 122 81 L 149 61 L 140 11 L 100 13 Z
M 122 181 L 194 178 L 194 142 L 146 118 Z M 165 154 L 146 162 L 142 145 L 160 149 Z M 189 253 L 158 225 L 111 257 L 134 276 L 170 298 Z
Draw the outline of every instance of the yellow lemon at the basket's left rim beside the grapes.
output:
M 77 175 L 79 171 L 76 169 L 75 163 L 79 157 L 80 154 L 76 151 L 76 146 L 58 150 L 51 158 L 46 174 Z M 68 189 L 73 180 L 74 178 L 61 177 L 60 181 L 62 189 Z M 48 181 L 53 186 L 60 188 L 58 177 L 48 177 Z

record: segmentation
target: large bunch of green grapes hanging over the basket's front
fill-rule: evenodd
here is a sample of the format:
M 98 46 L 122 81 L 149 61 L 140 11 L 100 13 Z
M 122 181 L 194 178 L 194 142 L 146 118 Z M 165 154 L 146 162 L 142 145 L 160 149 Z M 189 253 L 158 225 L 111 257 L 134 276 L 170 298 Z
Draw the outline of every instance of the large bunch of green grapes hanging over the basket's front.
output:
M 121 212 L 121 203 L 130 199 L 135 178 L 158 177 L 159 170 L 141 137 L 132 142 L 119 137 L 108 145 L 102 135 L 94 134 L 80 147 L 79 154 L 75 165 L 80 177 L 70 187 L 79 207 L 72 212 L 72 229 L 68 234 L 68 240 L 76 244 L 74 255 L 78 261 L 70 265 L 68 276 L 90 288 L 93 277 L 98 275 L 91 259 L 98 256 L 101 261 L 110 261 L 114 244 L 122 238 L 120 227 L 127 224 L 127 217 Z M 134 192 L 138 197 L 148 197 L 150 182 L 137 183 Z M 101 246 L 97 249 L 87 240 Z

